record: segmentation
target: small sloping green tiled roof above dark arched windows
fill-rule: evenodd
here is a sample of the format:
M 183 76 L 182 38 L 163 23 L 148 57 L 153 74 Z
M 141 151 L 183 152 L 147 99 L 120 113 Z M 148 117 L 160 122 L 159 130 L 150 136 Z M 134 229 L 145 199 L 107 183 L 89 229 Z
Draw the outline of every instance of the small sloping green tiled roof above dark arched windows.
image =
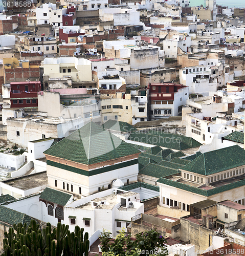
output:
M 39 199 L 46 200 L 61 206 L 65 206 L 65 204 L 69 201 L 71 197 L 72 195 L 46 187 L 40 195 Z

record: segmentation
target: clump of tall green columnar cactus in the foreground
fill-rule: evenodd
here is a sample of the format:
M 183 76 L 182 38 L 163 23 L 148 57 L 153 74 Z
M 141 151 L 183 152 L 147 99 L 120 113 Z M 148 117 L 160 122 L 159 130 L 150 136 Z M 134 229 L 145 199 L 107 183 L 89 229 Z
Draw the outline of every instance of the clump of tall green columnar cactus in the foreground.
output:
M 69 231 L 69 225 L 61 225 L 52 231 L 51 224 L 39 229 L 34 220 L 29 227 L 18 223 L 5 232 L 4 253 L 2 256 L 87 256 L 90 247 L 88 233 L 83 236 L 83 228 L 75 227 Z

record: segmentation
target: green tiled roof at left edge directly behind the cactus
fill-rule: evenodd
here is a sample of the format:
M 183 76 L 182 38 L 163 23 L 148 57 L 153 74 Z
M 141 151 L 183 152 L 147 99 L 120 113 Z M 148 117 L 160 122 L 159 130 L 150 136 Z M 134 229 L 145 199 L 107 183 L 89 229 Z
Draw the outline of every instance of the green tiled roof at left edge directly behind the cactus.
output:
M 30 225 L 30 222 L 33 218 L 23 214 L 22 212 L 7 208 L 3 205 L 0 205 L 0 221 L 10 224 L 11 226 L 15 223 L 27 223 L 27 226 Z

